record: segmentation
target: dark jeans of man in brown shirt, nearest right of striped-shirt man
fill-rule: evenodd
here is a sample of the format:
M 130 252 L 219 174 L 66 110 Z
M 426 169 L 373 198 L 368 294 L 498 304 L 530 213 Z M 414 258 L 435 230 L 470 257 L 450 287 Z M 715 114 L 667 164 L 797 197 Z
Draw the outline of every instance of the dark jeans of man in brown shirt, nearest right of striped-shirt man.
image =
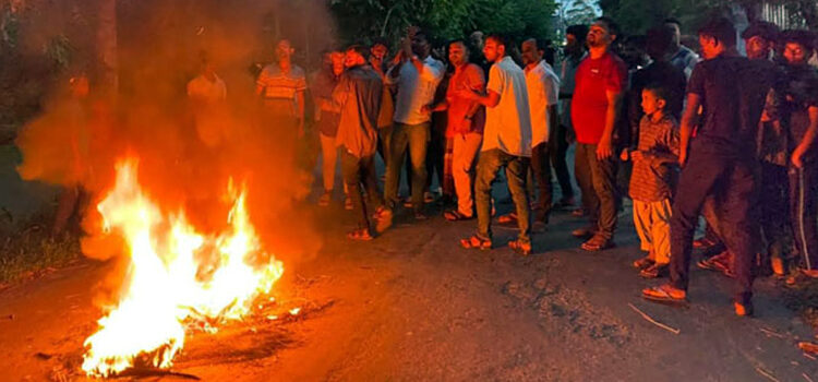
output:
M 383 205 L 381 191 L 375 181 L 375 157 L 374 155 L 359 158 L 341 147 L 341 171 L 344 181 L 347 183 L 347 192 L 352 200 L 352 206 L 359 214 L 358 228 L 370 229 L 370 213 Z M 363 201 L 363 191 L 366 190 L 369 206 Z

